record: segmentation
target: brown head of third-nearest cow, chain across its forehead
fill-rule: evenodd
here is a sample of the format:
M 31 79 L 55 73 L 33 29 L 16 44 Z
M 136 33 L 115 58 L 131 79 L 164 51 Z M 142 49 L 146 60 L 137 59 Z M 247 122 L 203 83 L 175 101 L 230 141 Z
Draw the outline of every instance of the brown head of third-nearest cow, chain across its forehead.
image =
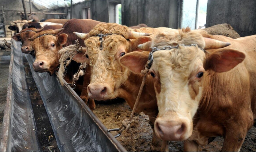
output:
M 56 35 L 62 29 L 45 30 L 37 33 L 29 40 L 33 40 L 31 47 L 34 50 L 36 60 L 33 63 L 33 69 L 36 72 L 48 72 L 50 76 L 58 67 L 58 51 L 67 42 L 67 34 Z

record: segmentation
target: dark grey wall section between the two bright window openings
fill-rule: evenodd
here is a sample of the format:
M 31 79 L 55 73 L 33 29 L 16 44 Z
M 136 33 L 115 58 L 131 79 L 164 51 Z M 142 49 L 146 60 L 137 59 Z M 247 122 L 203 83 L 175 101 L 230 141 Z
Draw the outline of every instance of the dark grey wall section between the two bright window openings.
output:
M 178 28 L 180 4 L 180 0 L 122 0 L 122 23 Z

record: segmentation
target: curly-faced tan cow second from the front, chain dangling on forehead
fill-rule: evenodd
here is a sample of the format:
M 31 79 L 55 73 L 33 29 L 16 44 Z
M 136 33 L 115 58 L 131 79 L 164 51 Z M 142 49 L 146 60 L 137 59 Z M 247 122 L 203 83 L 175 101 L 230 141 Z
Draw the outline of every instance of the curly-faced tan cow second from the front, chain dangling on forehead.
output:
M 87 87 L 89 98 L 95 100 L 108 100 L 123 98 L 128 105 L 133 108 L 136 96 L 138 95 L 142 76 L 131 73 L 127 67 L 120 64 L 119 58 L 132 51 L 138 51 L 137 45 L 150 41 L 162 31 L 178 33 L 178 29 L 160 28 L 140 28 L 129 29 L 127 26 L 116 23 L 99 23 L 89 34 L 76 33 L 84 39 L 86 53 L 84 56 L 74 56 L 73 60 L 85 62 L 89 60 L 91 67 L 91 81 Z M 102 50 L 98 34 L 109 34 L 104 36 Z M 148 52 L 145 52 L 148 54 Z M 151 127 L 154 128 L 155 117 L 158 114 L 157 100 L 154 91 L 153 79 L 148 76 L 139 105 L 136 112 L 144 112 L 149 116 Z M 154 129 L 153 129 L 154 131 Z M 153 151 L 167 150 L 168 142 L 161 143 L 153 132 Z

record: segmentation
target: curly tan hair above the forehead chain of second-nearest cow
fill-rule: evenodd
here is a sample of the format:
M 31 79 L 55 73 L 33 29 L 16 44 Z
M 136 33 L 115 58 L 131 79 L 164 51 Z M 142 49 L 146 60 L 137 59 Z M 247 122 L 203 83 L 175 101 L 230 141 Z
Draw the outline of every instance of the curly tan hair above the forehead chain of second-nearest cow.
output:
M 90 31 L 89 37 L 96 36 L 97 34 L 120 34 L 125 38 L 128 38 L 129 28 L 125 25 L 117 23 L 99 23 Z

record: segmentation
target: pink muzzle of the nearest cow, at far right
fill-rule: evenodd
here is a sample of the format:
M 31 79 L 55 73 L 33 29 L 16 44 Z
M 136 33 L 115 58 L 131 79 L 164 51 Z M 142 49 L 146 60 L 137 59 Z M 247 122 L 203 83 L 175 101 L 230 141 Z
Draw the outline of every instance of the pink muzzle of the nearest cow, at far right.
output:
M 170 120 L 168 117 L 157 118 L 155 133 L 165 141 L 183 141 L 192 135 L 192 125 L 183 119 Z

